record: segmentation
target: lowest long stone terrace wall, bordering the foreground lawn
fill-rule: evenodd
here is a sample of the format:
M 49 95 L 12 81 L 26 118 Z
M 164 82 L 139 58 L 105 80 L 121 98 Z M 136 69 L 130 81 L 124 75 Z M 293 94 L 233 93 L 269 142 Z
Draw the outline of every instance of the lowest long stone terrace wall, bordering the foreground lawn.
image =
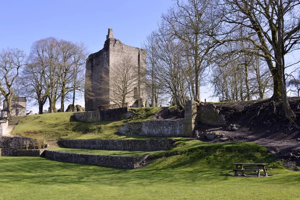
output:
M 112 156 L 89 155 L 44 150 L 43 155 L 49 159 L 77 164 L 91 164 L 124 169 L 134 169 L 146 164 L 147 155 L 144 156 Z

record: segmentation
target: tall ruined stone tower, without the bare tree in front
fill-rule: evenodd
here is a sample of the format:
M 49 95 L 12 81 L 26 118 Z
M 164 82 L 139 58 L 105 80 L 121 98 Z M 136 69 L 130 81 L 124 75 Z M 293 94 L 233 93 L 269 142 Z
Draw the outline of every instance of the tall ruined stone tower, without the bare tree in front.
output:
M 126 97 L 126 105 L 141 107 L 145 99 L 144 75 L 146 69 L 146 50 L 123 44 L 113 38 L 112 29 L 108 34 L 104 46 L 98 52 L 90 54 L 85 65 L 85 110 L 96 110 L 99 105 L 118 104 L 112 92 L 111 79 L 114 78 L 116 67 L 126 58 L 134 67 L 134 89 L 132 95 Z M 137 103 L 136 103 L 137 102 Z

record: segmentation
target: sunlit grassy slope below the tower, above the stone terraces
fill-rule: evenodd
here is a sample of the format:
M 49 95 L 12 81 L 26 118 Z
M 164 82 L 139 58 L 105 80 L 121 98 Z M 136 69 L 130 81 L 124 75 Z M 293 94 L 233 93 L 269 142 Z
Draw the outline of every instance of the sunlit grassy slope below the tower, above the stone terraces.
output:
M 144 138 L 138 136 L 117 135 L 114 132 L 117 131 L 119 127 L 126 122 L 148 120 L 158 109 L 160 108 L 135 108 L 136 112 L 132 119 L 121 121 L 103 121 L 95 123 L 74 121 L 70 117 L 72 112 L 28 115 L 20 119 L 19 123 L 15 126 L 13 133 L 27 137 L 42 137 L 47 140 L 56 140 L 59 138 Z M 15 121 L 16 118 L 13 117 L 13 120 Z

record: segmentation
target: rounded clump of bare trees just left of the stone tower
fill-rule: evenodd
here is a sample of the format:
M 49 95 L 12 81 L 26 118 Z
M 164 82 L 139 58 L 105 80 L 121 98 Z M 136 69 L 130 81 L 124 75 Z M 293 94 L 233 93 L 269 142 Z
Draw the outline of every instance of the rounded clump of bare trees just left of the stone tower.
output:
M 86 54 L 83 43 L 53 37 L 32 44 L 22 79 L 26 94 L 37 101 L 39 113 L 43 112 L 47 99 L 49 112 L 56 111 L 55 104 L 59 98 L 60 110 L 63 111 L 64 101 L 71 91 L 74 103 L 76 91 L 82 91 L 84 78 L 81 73 Z

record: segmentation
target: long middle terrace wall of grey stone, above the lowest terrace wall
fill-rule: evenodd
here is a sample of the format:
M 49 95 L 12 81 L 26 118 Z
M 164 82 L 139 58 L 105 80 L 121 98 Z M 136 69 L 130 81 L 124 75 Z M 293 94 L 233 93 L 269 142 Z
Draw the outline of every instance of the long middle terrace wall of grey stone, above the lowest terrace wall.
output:
M 60 139 L 58 142 L 67 148 L 102 150 L 169 150 L 174 139 Z

